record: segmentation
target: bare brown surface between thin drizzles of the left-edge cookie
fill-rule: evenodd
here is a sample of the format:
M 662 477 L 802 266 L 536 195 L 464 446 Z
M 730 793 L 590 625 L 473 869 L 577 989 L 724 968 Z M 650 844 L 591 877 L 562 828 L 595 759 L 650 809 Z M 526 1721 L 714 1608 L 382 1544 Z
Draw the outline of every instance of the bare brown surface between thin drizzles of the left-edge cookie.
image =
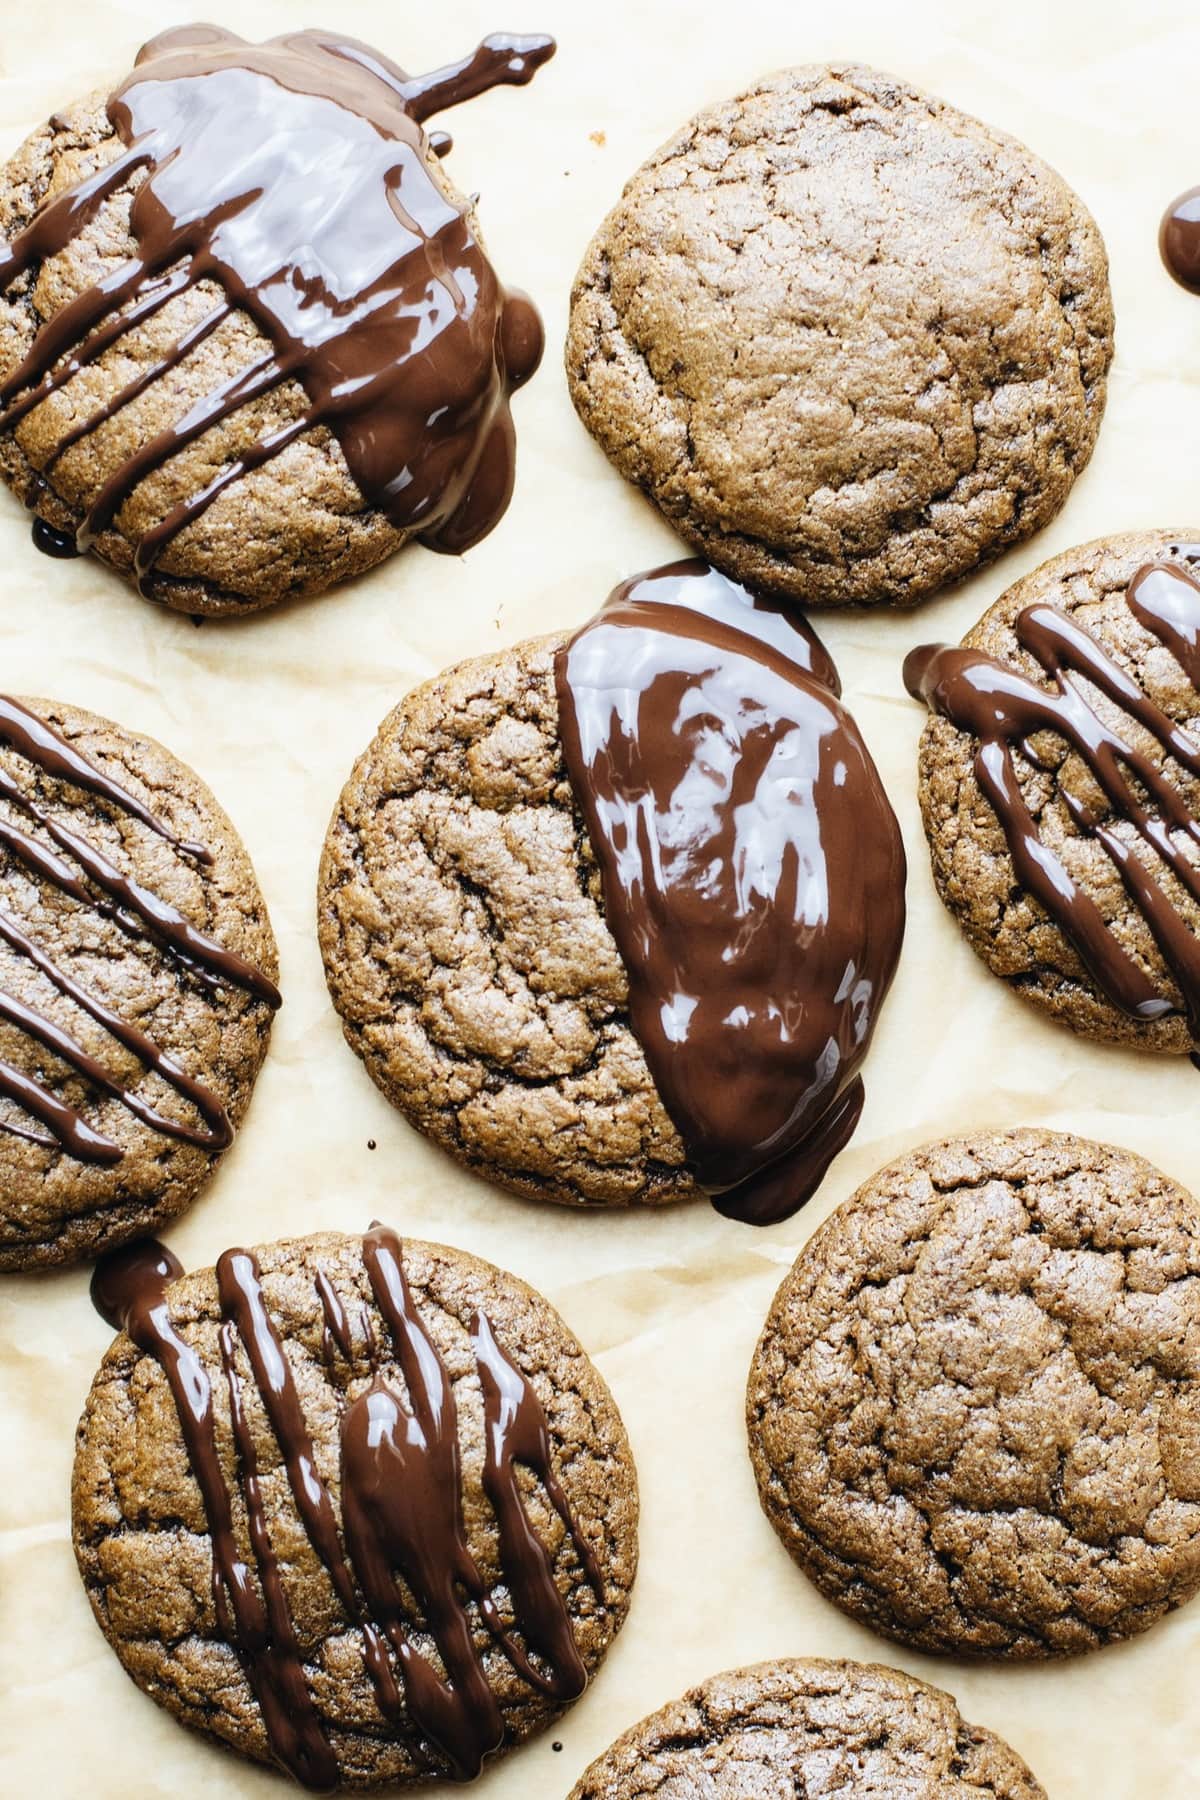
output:
M 210 862 L 185 853 L 126 806 L 90 794 L 18 754 L 0 734 L 0 785 L 41 808 L 59 835 L 25 805 L 0 792 L 0 1064 L 4 1084 L 38 1082 L 52 1103 L 76 1112 L 112 1147 L 104 1161 L 77 1157 L 59 1143 L 32 1143 L 18 1130 L 47 1136 L 18 1100 L 0 1098 L 0 1269 L 77 1262 L 173 1219 L 212 1175 L 219 1152 L 166 1136 L 153 1121 L 72 1069 L 36 1031 L 67 1033 L 119 1085 L 178 1125 L 203 1129 L 193 1100 L 153 1073 L 137 1053 L 76 997 L 56 985 L 49 963 L 92 1001 L 151 1039 L 185 1078 L 203 1084 L 232 1127 L 250 1103 L 266 1055 L 272 1001 L 203 963 L 167 954 L 146 922 L 128 907 L 112 909 L 104 889 L 85 871 L 83 853 L 101 853 L 115 875 L 146 889 L 149 902 L 173 905 L 218 949 L 234 952 L 264 979 L 279 972 L 266 902 L 250 859 L 227 814 L 203 781 L 169 751 L 81 707 L 29 700 L 94 769 L 115 781 L 184 842 L 203 846 Z M 20 833 L 32 851 L 16 855 Z M 65 893 L 31 869 L 31 855 L 50 857 L 83 893 Z M 25 940 L 14 947 L 13 932 Z M 36 958 L 43 961 L 38 963 Z M 29 1008 L 31 1026 L 13 1017 Z M 5 1087 L 7 1094 L 7 1087 Z M 119 1152 L 117 1157 L 112 1150 Z

